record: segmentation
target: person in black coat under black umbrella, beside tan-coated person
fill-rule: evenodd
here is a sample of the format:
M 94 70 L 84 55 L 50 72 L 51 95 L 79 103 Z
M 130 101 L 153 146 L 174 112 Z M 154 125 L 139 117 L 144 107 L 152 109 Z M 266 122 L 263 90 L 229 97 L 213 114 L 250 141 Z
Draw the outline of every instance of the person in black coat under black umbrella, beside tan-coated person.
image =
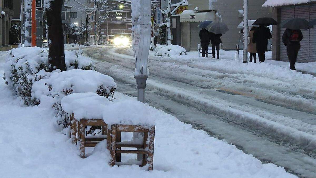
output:
M 265 26 L 276 24 L 277 22 L 270 17 L 259 18 L 253 22 L 253 25 L 259 25 L 253 33 L 252 43 L 257 43 L 256 50 L 260 63 L 265 60 L 265 52 L 268 51 L 268 40 L 272 38 L 270 29 Z

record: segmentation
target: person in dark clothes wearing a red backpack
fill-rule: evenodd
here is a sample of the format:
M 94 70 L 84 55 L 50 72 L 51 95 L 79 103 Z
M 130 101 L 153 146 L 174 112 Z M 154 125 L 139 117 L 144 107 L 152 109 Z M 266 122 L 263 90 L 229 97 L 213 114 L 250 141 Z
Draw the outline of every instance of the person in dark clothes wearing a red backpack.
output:
M 286 29 L 282 36 L 282 42 L 286 46 L 286 54 L 288 55 L 290 62 L 290 69 L 295 69 L 295 62 L 297 54 L 301 48 L 300 41 L 303 40 L 303 34 L 301 30 Z

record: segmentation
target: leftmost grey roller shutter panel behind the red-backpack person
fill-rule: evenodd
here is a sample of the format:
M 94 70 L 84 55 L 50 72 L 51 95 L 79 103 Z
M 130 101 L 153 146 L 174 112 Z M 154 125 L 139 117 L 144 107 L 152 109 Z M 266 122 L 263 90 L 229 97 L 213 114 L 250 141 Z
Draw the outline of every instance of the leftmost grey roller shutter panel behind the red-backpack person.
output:
M 281 8 L 281 23 L 287 19 L 294 18 L 294 7 L 282 7 Z M 280 60 L 289 61 L 286 54 L 286 46 L 283 45 L 282 35 L 285 29 L 280 28 Z

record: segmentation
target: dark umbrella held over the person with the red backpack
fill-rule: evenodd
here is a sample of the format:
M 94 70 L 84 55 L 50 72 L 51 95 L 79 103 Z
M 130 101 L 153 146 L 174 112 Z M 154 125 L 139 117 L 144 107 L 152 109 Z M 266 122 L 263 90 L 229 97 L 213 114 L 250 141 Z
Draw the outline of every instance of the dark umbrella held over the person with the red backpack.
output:
M 291 18 L 286 21 L 283 21 L 280 25 L 282 28 L 291 29 L 291 30 L 307 30 L 313 28 L 309 25 L 309 22 L 301 18 Z

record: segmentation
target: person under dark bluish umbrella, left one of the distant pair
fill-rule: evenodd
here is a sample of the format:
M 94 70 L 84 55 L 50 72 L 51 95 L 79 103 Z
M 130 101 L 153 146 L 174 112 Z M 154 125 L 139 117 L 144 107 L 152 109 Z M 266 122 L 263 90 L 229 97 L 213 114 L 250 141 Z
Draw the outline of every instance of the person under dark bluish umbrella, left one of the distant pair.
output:
M 202 46 L 202 57 L 209 57 L 208 49 L 210 45 L 210 33 L 205 28 L 212 23 L 212 21 L 204 21 L 201 22 L 197 27 L 201 28 L 200 30 L 200 40 L 201 40 L 201 46 Z

